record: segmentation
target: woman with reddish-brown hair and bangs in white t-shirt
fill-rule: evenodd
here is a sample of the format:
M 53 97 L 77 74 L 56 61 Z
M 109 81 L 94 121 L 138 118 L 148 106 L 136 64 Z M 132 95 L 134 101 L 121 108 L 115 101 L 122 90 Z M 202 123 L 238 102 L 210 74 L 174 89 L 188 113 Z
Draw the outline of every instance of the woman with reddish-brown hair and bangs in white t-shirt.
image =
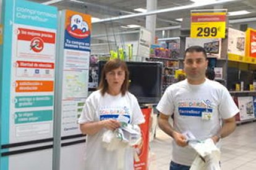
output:
M 79 118 L 80 130 L 87 134 L 86 170 L 117 169 L 118 150 L 106 150 L 101 141 L 105 131 L 121 126 L 116 120 L 119 115 L 129 118 L 127 123 L 131 124 L 145 121 L 137 99 L 127 91 L 129 71 L 126 63 L 119 59 L 109 60 L 101 75 L 99 90 L 88 97 Z M 134 169 L 133 155 L 134 150 L 126 148 L 123 169 Z

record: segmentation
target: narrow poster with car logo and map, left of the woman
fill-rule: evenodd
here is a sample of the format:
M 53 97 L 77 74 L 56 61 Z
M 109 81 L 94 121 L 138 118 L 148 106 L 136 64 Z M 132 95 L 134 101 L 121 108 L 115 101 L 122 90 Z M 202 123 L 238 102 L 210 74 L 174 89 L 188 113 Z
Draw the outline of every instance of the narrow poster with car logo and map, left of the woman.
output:
M 61 136 L 80 134 L 77 119 L 88 96 L 91 16 L 64 10 Z

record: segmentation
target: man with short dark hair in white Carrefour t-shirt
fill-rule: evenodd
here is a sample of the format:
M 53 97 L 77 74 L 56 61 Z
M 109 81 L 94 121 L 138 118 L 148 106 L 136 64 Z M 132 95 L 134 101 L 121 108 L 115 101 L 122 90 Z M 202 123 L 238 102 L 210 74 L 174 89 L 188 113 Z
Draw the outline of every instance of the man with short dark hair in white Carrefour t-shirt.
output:
M 174 139 L 171 170 L 189 169 L 196 156 L 184 132 L 199 140 L 211 138 L 218 146 L 236 128 L 234 115 L 239 110 L 226 87 L 205 77 L 207 65 L 203 47 L 189 47 L 184 57 L 187 79 L 169 86 L 156 107 L 160 128 Z M 170 115 L 174 126 L 168 122 Z

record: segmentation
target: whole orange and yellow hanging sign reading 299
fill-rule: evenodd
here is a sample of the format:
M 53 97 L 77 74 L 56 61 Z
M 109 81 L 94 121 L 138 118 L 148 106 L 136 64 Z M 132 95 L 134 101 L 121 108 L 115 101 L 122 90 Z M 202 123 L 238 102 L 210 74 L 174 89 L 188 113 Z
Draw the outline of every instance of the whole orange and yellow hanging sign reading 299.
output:
M 226 12 L 192 13 L 191 38 L 225 38 Z

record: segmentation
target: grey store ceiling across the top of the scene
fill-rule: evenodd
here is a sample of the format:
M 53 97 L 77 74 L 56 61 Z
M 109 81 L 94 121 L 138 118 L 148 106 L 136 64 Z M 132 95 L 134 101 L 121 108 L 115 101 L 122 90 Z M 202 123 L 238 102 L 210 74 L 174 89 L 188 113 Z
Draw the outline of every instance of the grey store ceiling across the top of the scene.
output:
M 34 2 L 53 2 L 52 6 L 59 9 L 71 9 L 79 12 L 84 12 L 97 18 L 117 17 L 119 15 L 129 15 L 136 13 L 134 9 L 147 7 L 147 0 L 30 0 Z M 205 0 L 202 0 L 205 1 Z M 219 0 L 221 1 L 221 0 Z M 157 9 L 167 9 L 177 6 L 186 6 L 192 4 L 189 0 L 158 0 Z M 229 12 L 237 10 L 248 10 L 251 12 L 246 15 L 236 15 L 229 17 L 230 20 L 237 18 L 252 18 L 256 17 L 256 1 L 255 0 L 237 0 L 221 4 L 223 9 L 228 9 Z M 213 9 L 213 6 L 205 6 L 200 9 Z M 197 8 L 199 9 L 199 8 Z M 180 22 L 176 18 L 188 18 L 190 9 L 179 10 L 175 12 L 165 12 L 157 15 L 156 27 L 167 27 L 179 25 Z M 129 24 L 145 26 L 145 16 L 129 18 L 125 20 L 115 21 L 111 23 L 113 26 L 126 26 Z

